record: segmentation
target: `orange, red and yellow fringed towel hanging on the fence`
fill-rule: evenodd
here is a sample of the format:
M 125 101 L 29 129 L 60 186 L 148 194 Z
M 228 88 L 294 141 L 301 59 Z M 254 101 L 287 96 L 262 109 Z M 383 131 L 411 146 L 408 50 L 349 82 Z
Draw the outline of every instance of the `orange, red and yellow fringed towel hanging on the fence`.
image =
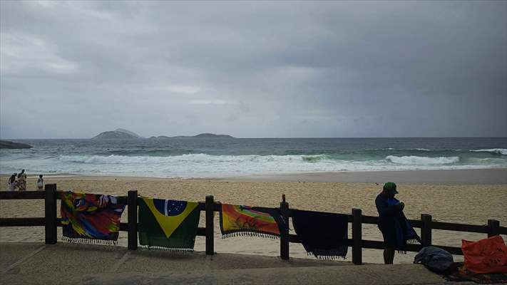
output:
M 277 239 L 282 216 L 279 209 L 222 204 L 220 230 L 222 239 L 237 236 L 256 236 Z

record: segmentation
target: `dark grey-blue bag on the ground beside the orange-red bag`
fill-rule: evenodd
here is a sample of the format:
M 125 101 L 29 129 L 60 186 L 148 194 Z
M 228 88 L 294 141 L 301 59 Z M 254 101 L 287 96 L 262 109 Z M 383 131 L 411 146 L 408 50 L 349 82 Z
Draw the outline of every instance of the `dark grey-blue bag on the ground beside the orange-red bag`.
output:
M 423 247 L 414 257 L 414 263 L 424 264 L 436 273 L 446 273 L 454 268 L 452 255 L 439 247 Z

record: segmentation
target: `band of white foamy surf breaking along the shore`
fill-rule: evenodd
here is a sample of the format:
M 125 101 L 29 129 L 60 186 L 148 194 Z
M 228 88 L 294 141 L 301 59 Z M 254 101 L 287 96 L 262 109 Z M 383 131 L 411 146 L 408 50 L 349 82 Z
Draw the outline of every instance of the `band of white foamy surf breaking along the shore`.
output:
M 27 167 L 29 166 L 29 167 Z M 60 155 L 2 157 L 3 173 L 21 168 L 30 173 L 125 175 L 144 177 L 227 177 L 273 173 L 444 170 L 507 167 L 502 157 L 394 156 L 379 159 L 339 159 L 329 155 L 208 155 L 172 156 Z

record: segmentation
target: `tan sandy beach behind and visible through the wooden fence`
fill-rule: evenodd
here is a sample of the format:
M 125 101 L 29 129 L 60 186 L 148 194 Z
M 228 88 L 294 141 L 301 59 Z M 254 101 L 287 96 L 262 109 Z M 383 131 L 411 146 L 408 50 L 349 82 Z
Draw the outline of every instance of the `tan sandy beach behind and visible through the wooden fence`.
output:
M 442 222 L 486 224 L 487 219 L 498 219 L 507 224 L 507 169 L 500 170 L 434 170 L 406 172 L 345 172 L 312 175 L 278 175 L 273 177 L 235 177 L 215 180 L 179 180 L 143 177 L 91 177 L 58 175 L 46 176 L 46 183 L 56 183 L 58 190 L 126 195 L 138 190 L 140 195 L 165 199 L 203 201 L 206 195 L 231 204 L 278 207 L 282 194 L 290 207 L 324 212 L 350 213 L 362 209 L 365 215 L 377 215 L 374 198 L 386 180 L 398 183 L 401 201 L 409 219 L 431 214 Z M 374 176 L 377 175 L 377 176 Z M 374 179 L 366 179 L 372 177 Z M 348 177 L 347 180 L 340 177 Z M 449 177 L 446 180 L 446 177 Z M 484 182 L 489 177 L 488 182 Z M 395 179 L 397 178 L 397 179 Z M 436 179 L 438 178 L 438 179 Z M 7 177 L 0 177 L 0 190 L 6 191 Z M 435 181 L 435 182 L 432 182 Z M 463 181 L 459 183 L 460 181 Z M 29 175 L 28 188 L 35 189 L 36 177 Z M 375 182 L 379 183 L 377 185 Z M 59 213 L 59 209 L 58 209 Z M 2 200 L 0 217 L 42 217 L 43 202 L 37 200 Z M 126 222 L 127 214 L 122 221 Z M 204 226 L 204 214 L 201 214 Z M 259 237 L 220 238 L 218 215 L 215 217 L 215 251 L 223 253 L 262 254 L 277 256 L 278 241 Z M 61 229 L 58 229 L 61 237 Z M 291 231 L 294 234 L 293 231 Z M 349 235 L 352 232 L 349 231 Z M 376 225 L 364 224 L 364 239 L 381 239 Z M 461 239 L 477 240 L 485 234 L 434 230 L 434 244 L 461 246 Z M 0 242 L 43 242 L 43 227 L 2 227 Z M 507 237 L 504 237 L 507 240 Z M 119 244 L 126 246 L 126 232 L 121 232 Z M 197 237 L 195 250 L 205 249 L 204 237 Z M 307 258 L 301 244 L 290 245 L 290 256 Z M 395 263 L 411 263 L 414 254 L 396 254 Z M 381 251 L 364 249 L 364 262 L 381 263 Z M 462 257 L 456 257 L 461 260 Z M 349 250 L 347 260 L 352 260 Z

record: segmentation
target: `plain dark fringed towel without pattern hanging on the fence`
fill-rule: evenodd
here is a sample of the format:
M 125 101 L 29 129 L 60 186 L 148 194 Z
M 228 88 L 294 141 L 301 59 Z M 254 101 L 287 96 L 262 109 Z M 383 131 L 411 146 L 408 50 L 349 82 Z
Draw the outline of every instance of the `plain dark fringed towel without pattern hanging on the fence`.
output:
M 318 259 L 347 256 L 347 215 L 292 209 L 292 225 L 307 253 Z

